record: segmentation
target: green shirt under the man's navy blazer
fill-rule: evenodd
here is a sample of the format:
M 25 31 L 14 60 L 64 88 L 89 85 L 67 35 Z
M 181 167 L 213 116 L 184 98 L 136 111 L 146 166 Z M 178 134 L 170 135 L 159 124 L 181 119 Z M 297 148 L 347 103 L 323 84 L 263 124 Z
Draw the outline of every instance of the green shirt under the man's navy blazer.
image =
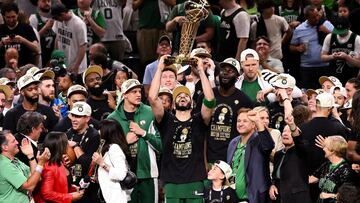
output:
M 246 176 L 245 176 L 245 148 L 246 145 L 239 144 L 236 147 L 232 160 L 233 173 L 235 176 L 235 192 L 239 199 L 247 199 Z

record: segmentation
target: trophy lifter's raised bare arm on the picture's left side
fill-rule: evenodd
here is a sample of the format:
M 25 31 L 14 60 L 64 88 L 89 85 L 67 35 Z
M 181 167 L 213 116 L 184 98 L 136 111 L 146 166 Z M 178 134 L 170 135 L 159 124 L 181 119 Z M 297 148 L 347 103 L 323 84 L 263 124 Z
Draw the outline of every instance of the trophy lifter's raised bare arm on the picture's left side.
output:
M 161 73 L 165 67 L 164 59 L 167 58 L 167 55 L 164 55 L 160 58 L 159 65 L 156 69 L 154 78 L 151 82 L 150 89 L 149 89 L 149 104 L 153 110 L 156 122 L 160 123 L 163 116 L 164 116 L 164 107 L 162 102 L 160 101 L 158 94 L 160 89 L 160 80 L 161 80 Z

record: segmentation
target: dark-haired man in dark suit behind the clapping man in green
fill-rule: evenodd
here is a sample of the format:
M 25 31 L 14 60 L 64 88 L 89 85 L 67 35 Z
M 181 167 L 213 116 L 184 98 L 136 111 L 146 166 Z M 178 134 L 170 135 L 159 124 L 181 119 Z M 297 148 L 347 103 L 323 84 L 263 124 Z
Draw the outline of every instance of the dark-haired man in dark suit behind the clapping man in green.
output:
M 46 130 L 43 121 L 44 116 L 42 114 L 36 111 L 27 111 L 20 117 L 16 127 L 18 133 L 15 135 L 15 138 L 19 143 L 19 147 L 21 145 L 21 140 L 27 138 L 31 143 L 35 156 L 38 152 L 38 140 L 40 134 Z M 29 165 L 29 160 L 22 151 L 16 154 L 16 157 L 26 165 Z

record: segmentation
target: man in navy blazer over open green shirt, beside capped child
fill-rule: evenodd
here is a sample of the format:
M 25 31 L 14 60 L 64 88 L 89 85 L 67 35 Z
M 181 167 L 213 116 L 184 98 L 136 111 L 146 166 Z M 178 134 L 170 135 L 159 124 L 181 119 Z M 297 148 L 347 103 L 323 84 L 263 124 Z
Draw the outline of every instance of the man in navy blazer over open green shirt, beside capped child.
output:
M 274 141 L 251 109 L 239 110 L 236 128 L 239 136 L 231 140 L 227 150 L 227 162 L 236 174 L 236 195 L 240 201 L 270 202 L 269 157 Z

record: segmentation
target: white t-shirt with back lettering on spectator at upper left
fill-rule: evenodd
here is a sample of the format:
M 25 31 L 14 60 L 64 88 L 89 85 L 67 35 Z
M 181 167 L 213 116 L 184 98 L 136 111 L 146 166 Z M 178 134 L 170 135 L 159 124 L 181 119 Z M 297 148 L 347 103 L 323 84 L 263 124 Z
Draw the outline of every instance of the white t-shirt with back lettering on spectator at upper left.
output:
M 87 44 L 87 31 L 84 21 L 71 12 L 67 22 L 55 21 L 53 30 L 58 37 L 58 49 L 65 53 L 68 65 L 76 62 L 80 46 Z M 86 54 L 81 61 L 79 74 L 87 68 Z

